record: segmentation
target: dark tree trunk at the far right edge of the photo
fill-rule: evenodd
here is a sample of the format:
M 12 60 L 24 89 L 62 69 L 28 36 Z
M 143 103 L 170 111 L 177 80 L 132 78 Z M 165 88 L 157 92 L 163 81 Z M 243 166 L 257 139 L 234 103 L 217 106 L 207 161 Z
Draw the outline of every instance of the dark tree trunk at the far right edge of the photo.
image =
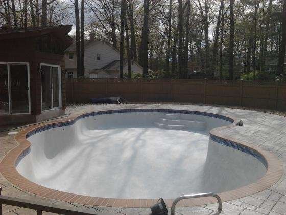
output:
M 278 57 L 278 72 L 280 75 L 284 75 L 284 62 L 285 62 L 285 49 L 286 49 L 286 0 L 283 3 L 283 12 L 281 15 L 282 19 L 282 32 L 281 32 L 281 42 L 279 48 Z

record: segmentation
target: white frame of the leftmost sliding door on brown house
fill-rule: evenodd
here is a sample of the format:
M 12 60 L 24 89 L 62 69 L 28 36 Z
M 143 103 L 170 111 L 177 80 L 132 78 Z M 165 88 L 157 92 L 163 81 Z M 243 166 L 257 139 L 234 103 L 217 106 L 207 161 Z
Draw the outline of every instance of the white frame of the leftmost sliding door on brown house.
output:
M 7 78 L 8 78 L 8 102 L 9 102 L 9 114 L 10 115 L 19 115 L 19 114 L 31 114 L 31 87 L 30 87 L 30 64 L 29 62 L 0 62 L 0 64 L 7 65 Z M 28 79 L 28 103 L 29 103 L 29 112 L 26 113 L 11 113 L 11 71 L 10 65 L 17 64 L 17 65 L 27 65 L 27 79 Z M 4 114 L 7 115 L 7 114 Z

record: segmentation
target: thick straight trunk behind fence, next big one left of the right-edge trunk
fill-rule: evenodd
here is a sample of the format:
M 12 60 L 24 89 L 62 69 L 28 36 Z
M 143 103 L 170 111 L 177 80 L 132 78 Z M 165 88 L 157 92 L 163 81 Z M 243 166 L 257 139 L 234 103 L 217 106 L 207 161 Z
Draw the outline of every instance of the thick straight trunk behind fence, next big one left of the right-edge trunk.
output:
M 230 33 L 229 33 L 229 79 L 233 80 L 233 52 L 234 52 L 234 0 L 230 0 Z

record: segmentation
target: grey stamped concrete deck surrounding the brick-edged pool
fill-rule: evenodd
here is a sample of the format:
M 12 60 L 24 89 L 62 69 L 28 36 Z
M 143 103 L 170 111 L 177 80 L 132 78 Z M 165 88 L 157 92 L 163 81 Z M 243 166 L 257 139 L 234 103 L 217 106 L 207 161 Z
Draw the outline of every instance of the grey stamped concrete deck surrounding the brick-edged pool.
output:
M 266 114 L 262 112 L 231 109 L 226 107 L 197 106 L 197 105 L 176 105 L 176 104 L 123 104 L 123 105 L 86 105 L 68 107 L 71 111 L 69 117 L 84 112 L 100 111 L 107 109 L 120 108 L 162 108 L 162 109 L 183 109 L 205 111 L 210 113 L 231 115 L 237 119 L 242 119 L 245 123 L 243 127 L 230 128 L 221 131 L 224 134 L 260 146 L 265 150 L 274 153 L 280 160 L 286 163 L 286 118 L 282 116 Z M 67 112 L 68 112 L 67 110 Z M 67 117 L 68 118 L 68 117 Z M 62 120 L 62 119 L 61 119 Z M 55 120 L 56 121 L 56 120 Z M 0 159 L 2 159 L 9 150 L 17 145 L 12 136 L 7 136 L 7 132 L 0 133 Z M 2 185 L 1 185 L 2 184 Z M 47 201 L 55 204 L 63 204 L 80 208 L 88 208 L 79 204 L 69 204 L 57 200 L 45 199 L 29 193 L 20 191 L 0 176 L 0 186 L 5 186 L 3 195 L 19 198 L 33 199 L 37 201 Z M 177 214 L 210 214 L 216 211 L 217 204 L 204 205 L 199 207 L 182 207 L 177 208 Z M 148 214 L 149 208 L 110 208 L 110 207 L 91 207 L 91 210 L 110 211 L 121 214 Z M 32 214 L 23 208 L 13 208 L 12 206 L 4 206 L 8 214 Z M 22 211 L 22 212 L 21 212 Z M 223 203 L 223 212 L 225 214 L 285 214 L 286 211 L 286 179 L 283 176 L 281 180 L 274 186 L 254 195 L 244 197 Z

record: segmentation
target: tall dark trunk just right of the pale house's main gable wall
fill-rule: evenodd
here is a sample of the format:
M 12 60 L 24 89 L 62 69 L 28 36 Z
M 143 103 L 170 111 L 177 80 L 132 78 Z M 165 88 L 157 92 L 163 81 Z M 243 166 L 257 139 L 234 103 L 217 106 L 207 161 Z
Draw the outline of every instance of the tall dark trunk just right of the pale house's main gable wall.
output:
M 121 16 L 120 16 L 120 66 L 119 78 L 123 78 L 123 61 L 124 61 L 124 19 L 125 19 L 125 1 L 121 1 Z

